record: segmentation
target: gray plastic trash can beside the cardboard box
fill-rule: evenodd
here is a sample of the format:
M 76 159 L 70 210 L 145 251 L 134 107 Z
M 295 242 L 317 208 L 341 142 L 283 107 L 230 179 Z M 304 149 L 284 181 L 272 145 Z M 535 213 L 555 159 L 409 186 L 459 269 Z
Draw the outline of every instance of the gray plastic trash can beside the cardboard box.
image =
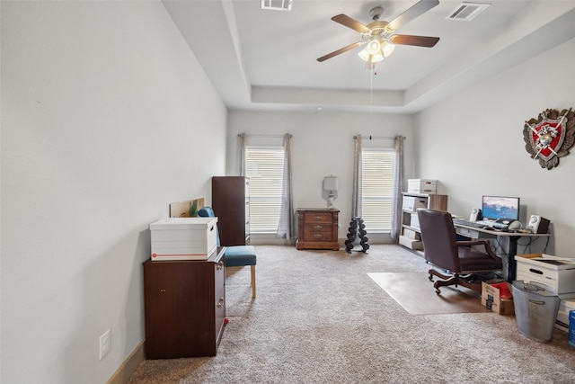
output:
M 542 285 L 513 281 L 517 330 L 529 339 L 541 343 L 551 341 L 560 302 L 555 292 Z

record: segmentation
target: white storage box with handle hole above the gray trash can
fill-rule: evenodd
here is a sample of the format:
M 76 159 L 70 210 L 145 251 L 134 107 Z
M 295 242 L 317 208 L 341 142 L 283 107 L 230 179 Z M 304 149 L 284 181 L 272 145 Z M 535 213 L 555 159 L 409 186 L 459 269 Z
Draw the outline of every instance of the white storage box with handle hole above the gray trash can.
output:
M 544 284 L 558 294 L 575 292 L 575 259 L 529 254 L 515 260 L 517 280 Z

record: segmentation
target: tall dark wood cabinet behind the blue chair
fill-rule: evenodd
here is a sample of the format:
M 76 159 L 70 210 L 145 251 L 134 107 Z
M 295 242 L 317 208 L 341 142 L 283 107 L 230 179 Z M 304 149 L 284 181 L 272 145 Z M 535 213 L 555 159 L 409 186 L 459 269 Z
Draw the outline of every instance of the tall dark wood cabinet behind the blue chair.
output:
M 212 208 L 222 246 L 250 244 L 250 179 L 212 177 Z

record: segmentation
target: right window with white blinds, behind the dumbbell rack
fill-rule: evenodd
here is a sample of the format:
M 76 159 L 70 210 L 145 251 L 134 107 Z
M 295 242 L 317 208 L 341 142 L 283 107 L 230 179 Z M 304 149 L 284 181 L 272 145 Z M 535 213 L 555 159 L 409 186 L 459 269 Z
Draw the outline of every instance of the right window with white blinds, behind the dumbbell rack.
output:
M 394 164 L 393 149 L 361 151 L 361 219 L 367 233 L 389 232 L 392 228 Z

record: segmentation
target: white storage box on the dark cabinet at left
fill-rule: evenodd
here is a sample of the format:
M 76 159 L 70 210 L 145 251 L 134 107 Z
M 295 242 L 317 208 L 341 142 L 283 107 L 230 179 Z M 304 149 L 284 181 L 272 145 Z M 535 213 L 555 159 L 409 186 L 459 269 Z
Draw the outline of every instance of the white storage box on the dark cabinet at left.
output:
M 169 218 L 150 224 L 152 261 L 208 260 L 216 249 L 217 218 Z

